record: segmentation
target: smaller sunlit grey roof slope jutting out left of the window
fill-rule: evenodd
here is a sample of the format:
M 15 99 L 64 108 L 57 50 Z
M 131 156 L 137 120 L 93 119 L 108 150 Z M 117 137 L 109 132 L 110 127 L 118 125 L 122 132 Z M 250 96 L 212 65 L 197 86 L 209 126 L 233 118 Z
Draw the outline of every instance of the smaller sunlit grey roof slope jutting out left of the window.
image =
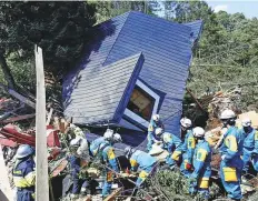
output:
M 112 121 L 121 115 L 118 113 L 120 102 L 126 101 L 125 94 L 135 87 L 142 62 L 143 57 L 138 53 L 98 70 L 85 70 L 88 82 L 83 84 L 83 91 L 77 93 L 75 90 L 67 100 L 64 114 L 73 117 L 76 123 L 82 119 L 87 123 L 102 122 L 107 117 Z

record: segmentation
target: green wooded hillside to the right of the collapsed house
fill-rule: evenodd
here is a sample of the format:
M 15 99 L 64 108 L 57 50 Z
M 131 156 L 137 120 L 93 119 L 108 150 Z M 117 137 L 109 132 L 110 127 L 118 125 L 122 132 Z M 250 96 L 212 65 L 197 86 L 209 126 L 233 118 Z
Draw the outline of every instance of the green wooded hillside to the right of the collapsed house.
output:
M 242 13 L 229 14 L 225 11 L 215 13 L 202 0 L 166 1 L 165 8 L 168 20 L 204 20 L 204 31 L 195 50 L 188 88 L 200 97 L 208 88 L 218 91 L 240 84 L 241 109 L 257 104 L 257 18 L 247 19 Z

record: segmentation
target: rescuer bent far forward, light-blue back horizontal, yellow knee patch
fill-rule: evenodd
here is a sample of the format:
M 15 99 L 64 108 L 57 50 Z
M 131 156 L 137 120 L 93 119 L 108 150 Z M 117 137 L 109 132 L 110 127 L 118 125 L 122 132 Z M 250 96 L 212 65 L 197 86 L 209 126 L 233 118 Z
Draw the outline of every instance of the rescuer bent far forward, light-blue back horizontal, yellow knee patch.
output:
M 141 170 L 136 181 L 136 185 L 140 187 L 156 167 L 157 161 L 149 153 L 140 150 L 133 150 L 131 147 L 127 147 L 125 149 L 125 155 L 130 161 L 132 172 L 137 172 L 138 168 Z

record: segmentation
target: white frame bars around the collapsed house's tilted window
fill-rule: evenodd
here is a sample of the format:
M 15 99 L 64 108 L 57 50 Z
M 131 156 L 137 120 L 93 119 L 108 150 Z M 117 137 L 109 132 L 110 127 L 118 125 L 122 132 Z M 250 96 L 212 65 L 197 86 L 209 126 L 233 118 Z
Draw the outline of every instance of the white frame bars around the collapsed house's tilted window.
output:
M 160 97 L 156 92 L 153 92 L 149 87 L 147 87 L 143 82 L 141 82 L 140 80 L 137 80 L 136 86 L 139 87 L 141 90 L 143 90 L 146 93 L 148 93 L 150 97 L 153 98 L 155 104 L 153 104 L 153 109 L 152 109 L 152 113 L 151 113 L 151 117 L 152 117 L 158 111 Z M 132 112 L 128 108 L 126 108 L 123 114 L 127 118 L 129 118 L 129 119 L 136 121 L 137 123 L 143 125 L 145 128 L 149 127 L 149 121 L 147 121 L 143 118 L 141 118 L 140 115 L 136 114 L 135 112 Z

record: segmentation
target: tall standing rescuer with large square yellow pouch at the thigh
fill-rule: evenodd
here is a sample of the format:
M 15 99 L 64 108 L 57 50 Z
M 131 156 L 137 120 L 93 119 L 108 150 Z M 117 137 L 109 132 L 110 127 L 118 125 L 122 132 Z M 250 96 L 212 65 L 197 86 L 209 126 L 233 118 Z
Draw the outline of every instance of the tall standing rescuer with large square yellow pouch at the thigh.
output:
M 220 147 L 221 181 L 228 193 L 228 198 L 240 200 L 242 198 L 240 180 L 244 162 L 240 158 L 242 153 L 242 141 L 238 129 L 235 127 L 236 114 L 232 110 L 225 110 L 220 115 L 220 120 L 228 128 Z

